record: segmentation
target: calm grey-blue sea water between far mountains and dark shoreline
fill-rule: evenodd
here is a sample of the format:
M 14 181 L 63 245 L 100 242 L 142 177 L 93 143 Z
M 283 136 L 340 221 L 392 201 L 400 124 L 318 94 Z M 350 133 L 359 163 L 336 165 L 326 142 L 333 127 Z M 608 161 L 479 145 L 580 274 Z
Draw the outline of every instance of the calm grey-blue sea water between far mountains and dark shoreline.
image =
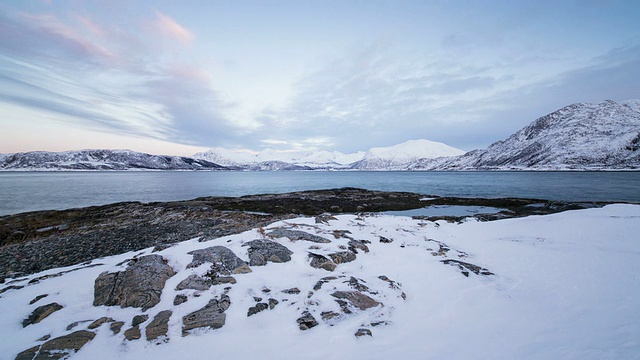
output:
M 0 172 L 0 215 L 347 186 L 438 196 L 640 202 L 640 172 Z

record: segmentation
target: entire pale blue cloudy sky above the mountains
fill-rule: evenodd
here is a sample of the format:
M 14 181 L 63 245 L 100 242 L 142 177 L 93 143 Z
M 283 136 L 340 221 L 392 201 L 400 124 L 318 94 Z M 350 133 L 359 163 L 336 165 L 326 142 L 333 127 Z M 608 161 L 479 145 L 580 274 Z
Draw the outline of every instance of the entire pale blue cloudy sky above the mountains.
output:
M 0 153 L 484 148 L 640 98 L 640 2 L 0 2 Z

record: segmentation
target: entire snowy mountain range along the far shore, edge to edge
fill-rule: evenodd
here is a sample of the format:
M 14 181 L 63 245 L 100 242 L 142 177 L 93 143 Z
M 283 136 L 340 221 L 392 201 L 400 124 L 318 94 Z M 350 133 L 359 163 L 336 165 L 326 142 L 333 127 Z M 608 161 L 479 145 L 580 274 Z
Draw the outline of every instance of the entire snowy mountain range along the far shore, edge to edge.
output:
M 0 155 L 0 170 L 640 170 L 640 100 L 572 104 L 487 149 L 467 153 L 429 140 L 353 154 L 224 148 L 193 157 L 36 151 Z

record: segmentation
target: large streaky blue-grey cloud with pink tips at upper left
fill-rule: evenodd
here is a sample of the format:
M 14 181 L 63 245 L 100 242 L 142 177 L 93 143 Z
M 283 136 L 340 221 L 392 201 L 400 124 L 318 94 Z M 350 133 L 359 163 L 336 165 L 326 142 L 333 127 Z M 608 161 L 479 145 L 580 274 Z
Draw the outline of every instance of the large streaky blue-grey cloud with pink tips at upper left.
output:
M 144 45 L 193 35 L 161 13 L 154 24 L 158 31 L 143 38 L 86 16 L 0 15 L 0 102 L 95 131 L 189 145 L 239 142 L 243 129 L 222 115 L 231 105 L 207 71 L 187 54 Z

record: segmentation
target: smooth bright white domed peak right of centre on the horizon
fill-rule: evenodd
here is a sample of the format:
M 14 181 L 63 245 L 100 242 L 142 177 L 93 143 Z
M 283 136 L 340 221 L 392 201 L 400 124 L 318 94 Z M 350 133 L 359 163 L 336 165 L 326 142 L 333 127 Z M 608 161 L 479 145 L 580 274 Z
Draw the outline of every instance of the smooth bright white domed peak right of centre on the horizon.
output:
M 351 168 L 358 170 L 406 170 L 421 159 L 462 155 L 464 151 L 430 140 L 409 140 L 390 147 L 372 148 Z

